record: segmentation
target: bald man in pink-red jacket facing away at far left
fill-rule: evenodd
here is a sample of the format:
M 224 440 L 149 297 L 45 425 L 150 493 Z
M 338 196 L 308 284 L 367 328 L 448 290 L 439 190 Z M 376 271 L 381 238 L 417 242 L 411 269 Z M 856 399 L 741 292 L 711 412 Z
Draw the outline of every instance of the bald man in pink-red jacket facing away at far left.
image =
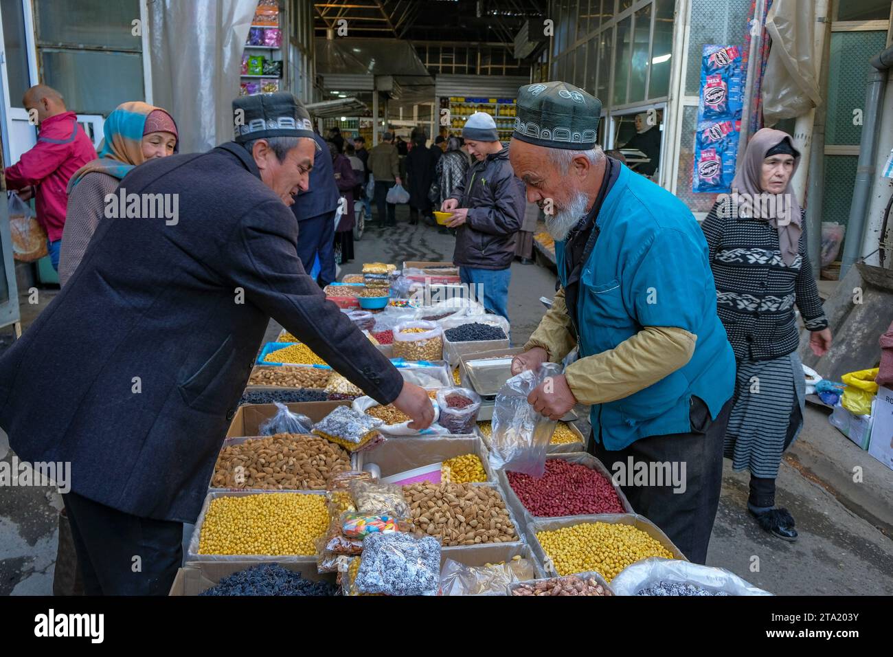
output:
M 46 246 L 58 271 L 68 181 L 80 167 L 96 159 L 96 149 L 54 88 L 43 84 L 31 87 L 22 103 L 38 124 L 38 143 L 18 163 L 6 167 L 6 188 L 17 190 L 25 200 L 37 196 L 38 223 L 46 230 Z

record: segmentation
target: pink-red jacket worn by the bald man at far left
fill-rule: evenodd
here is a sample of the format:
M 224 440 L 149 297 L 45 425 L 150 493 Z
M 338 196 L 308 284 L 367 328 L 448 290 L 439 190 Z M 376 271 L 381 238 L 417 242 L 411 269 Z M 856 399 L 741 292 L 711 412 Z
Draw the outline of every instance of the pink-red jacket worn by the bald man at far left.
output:
M 7 189 L 37 186 L 38 223 L 50 241 L 62 239 L 69 179 L 95 159 L 93 142 L 78 125 L 74 112 L 63 112 L 41 122 L 38 143 L 17 164 L 6 167 Z

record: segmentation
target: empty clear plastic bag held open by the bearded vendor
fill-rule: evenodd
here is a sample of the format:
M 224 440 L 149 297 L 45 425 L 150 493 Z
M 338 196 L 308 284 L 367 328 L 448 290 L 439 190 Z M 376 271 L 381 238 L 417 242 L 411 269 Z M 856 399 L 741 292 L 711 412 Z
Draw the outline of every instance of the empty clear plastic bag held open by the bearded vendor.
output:
M 555 420 L 540 415 L 527 396 L 549 376 L 561 374 L 555 363 L 543 363 L 536 371 L 513 376 L 497 393 L 490 437 L 490 467 L 543 476 Z

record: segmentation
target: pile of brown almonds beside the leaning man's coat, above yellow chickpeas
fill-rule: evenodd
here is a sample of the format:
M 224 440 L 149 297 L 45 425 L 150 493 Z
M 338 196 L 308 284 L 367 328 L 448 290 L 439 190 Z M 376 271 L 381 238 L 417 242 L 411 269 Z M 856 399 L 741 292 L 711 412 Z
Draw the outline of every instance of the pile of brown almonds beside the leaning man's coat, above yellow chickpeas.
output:
M 225 447 L 213 488 L 322 491 L 330 476 L 350 469 L 350 455 L 314 435 L 276 434 Z

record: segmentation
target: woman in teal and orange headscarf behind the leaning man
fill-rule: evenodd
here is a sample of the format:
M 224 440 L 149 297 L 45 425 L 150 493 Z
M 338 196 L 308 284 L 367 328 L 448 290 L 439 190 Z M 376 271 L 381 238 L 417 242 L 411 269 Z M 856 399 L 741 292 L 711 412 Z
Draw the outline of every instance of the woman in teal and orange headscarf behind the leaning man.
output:
M 90 238 L 104 216 L 105 196 L 138 164 L 178 151 L 177 124 L 161 107 L 121 103 L 105 119 L 99 159 L 84 164 L 68 183 L 68 209 L 59 254 L 59 282 L 65 285 L 78 268 Z

